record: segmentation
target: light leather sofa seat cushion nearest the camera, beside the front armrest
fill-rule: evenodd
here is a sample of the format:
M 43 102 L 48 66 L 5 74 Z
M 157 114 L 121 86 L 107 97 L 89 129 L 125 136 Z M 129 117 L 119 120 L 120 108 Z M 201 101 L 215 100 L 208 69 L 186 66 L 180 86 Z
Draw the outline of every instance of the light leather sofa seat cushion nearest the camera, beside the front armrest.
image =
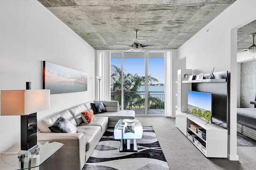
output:
M 78 126 L 78 133 L 84 134 L 86 143 L 86 152 L 94 146 L 94 143 L 98 143 L 100 138 L 101 127 L 100 126 Z

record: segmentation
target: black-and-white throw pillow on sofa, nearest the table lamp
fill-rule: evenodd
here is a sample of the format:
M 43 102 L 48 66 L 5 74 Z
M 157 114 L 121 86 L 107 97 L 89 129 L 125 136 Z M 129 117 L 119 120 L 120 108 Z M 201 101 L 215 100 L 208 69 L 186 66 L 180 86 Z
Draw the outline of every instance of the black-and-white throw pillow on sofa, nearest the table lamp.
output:
M 54 133 L 77 133 L 78 129 L 68 119 L 60 117 L 49 129 Z

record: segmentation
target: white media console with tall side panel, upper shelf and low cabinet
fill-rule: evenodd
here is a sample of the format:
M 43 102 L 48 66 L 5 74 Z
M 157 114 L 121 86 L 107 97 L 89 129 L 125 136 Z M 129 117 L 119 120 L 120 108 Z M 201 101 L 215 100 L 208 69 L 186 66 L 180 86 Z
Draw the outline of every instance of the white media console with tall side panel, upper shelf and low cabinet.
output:
M 191 74 L 191 69 L 178 70 L 178 93 L 176 94 L 176 127 L 184 134 L 195 147 L 208 158 L 227 158 L 228 155 L 228 130 L 215 124 L 208 123 L 199 117 L 188 113 L 188 91 L 192 90 L 192 83 L 226 82 L 226 79 L 204 79 L 195 81 L 182 81 L 184 74 Z M 190 124 L 199 125 L 205 130 L 206 138 L 190 128 Z M 195 136 L 193 138 L 192 136 Z M 191 140 L 192 138 L 193 140 Z M 194 140 L 195 139 L 195 140 Z

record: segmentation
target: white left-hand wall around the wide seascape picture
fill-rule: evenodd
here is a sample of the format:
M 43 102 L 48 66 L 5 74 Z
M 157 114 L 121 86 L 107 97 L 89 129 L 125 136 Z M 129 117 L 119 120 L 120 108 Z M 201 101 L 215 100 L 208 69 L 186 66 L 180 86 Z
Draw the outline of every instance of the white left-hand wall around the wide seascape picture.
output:
M 42 89 L 42 61 L 88 73 L 88 91 L 52 94 L 38 120 L 94 100 L 95 50 L 36 0 L 0 1 L 0 90 Z M 20 143 L 20 117 L 0 116 L 0 152 Z

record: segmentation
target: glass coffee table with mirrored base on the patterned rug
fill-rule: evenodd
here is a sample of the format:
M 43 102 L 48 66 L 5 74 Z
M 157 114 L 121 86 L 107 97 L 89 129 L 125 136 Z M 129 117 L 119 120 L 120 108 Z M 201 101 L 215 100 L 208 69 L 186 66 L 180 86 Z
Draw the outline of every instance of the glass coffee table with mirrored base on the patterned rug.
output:
M 115 139 L 121 139 L 120 152 L 137 152 L 136 139 L 142 138 L 142 125 L 138 119 L 120 119 L 114 128 Z

